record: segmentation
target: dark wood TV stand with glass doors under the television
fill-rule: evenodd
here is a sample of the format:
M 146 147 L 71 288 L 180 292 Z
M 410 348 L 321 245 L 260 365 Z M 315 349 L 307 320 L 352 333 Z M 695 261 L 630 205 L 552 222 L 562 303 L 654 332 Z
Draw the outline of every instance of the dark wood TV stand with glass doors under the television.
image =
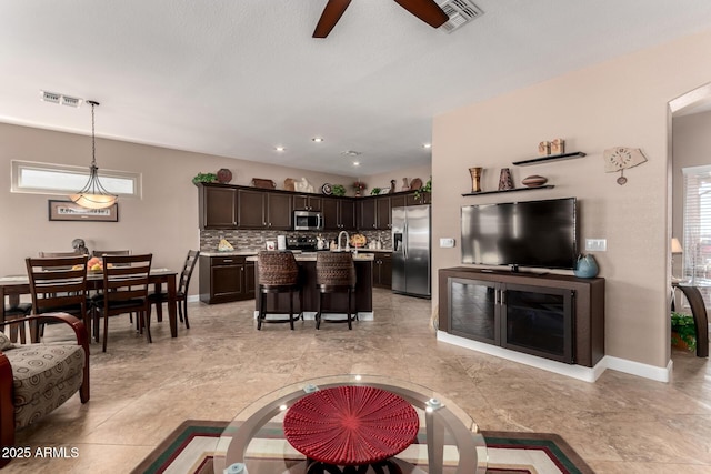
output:
M 472 291 L 471 304 L 461 304 L 462 299 L 468 296 L 467 292 L 458 294 L 458 305 L 455 311 L 460 313 L 467 312 L 463 317 L 475 317 L 477 312 L 487 313 L 487 317 L 491 321 L 490 325 L 495 327 L 495 336 L 481 337 L 477 330 L 471 333 L 458 330 L 461 317 L 452 320 L 452 301 L 450 289 L 452 282 L 461 288 L 468 288 Z M 462 286 L 463 284 L 463 286 Z M 565 349 L 567 359 L 564 362 L 593 367 L 604 356 L 604 279 L 579 279 L 572 275 L 559 275 L 553 273 L 527 273 L 527 272 L 509 272 L 505 270 L 475 269 L 468 266 L 455 266 L 450 269 L 440 269 L 439 271 L 439 329 L 450 334 L 454 334 L 471 340 L 485 342 L 494 345 L 501 345 L 505 349 L 528 352 L 533 355 L 547 359 L 563 361 L 562 354 L 549 356 L 543 351 L 530 350 L 529 347 L 517 349 L 515 345 L 508 344 L 507 330 L 511 329 L 511 322 L 507 324 L 507 303 L 508 291 L 523 292 L 522 294 L 541 295 L 551 294 L 553 297 L 560 295 L 565 303 L 565 313 L 571 317 L 568 323 L 570 332 L 570 341 Z M 479 296 L 485 295 L 488 301 L 481 305 L 481 301 L 473 301 Z M 511 297 L 511 300 L 513 300 Z M 562 301 L 561 300 L 561 301 Z M 513 303 L 512 303 L 513 304 Z M 485 309 L 483 306 L 487 306 Z M 561 303 L 561 307 L 563 304 Z M 519 307 L 517 311 L 525 311 Z M 535 309 L 531 307 L 531 313 L 535 313 Z M 545 311 L 541 311 L 544 313 Z M 495 317 L 493 317 L 495 313 Z M 562 311 L 561 311 L 562 314 Z M 461 316 L 461 314 L 460 314 Z M 493 317 L 493 319 L 492 319 Z M 484 317 L 485 319 L 485 317 Z M 535 320 L 535 316 L 532 317 Z M 454 323 L 452 323 L 454 321 Z M 477 324 L 477 323 L 472 323 Z M 487 324 L 487 321 L 484 321 Z M 520 329 L 519 329 L 520 331 Z

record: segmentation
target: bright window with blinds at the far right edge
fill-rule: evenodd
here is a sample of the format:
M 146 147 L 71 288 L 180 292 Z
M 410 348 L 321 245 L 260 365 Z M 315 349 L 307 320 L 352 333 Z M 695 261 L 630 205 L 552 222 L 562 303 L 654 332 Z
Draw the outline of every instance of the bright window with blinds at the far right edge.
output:
M 684 177 L 684 279 L 711 283 L 711 165 L 682 170 Z M 707 305 L 709 294 L 704 293 Z

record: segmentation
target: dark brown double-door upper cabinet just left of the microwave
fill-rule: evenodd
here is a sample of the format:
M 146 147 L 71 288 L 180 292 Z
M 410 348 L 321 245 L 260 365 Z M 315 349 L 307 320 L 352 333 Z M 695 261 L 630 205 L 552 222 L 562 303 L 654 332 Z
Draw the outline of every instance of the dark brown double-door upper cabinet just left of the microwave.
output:
M 240 189 L 237 200 L 238 229 L 291 229 L 290 194 Z

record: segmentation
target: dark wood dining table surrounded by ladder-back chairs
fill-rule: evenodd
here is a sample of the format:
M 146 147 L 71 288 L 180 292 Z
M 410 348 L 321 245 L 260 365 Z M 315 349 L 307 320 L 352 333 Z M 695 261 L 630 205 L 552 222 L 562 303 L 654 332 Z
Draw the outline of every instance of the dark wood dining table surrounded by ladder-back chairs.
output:
M 151 269 L 148 275 L 148 283 L 154 285 L 156 292 L 161 291 L 161 286 L 166 284 L 168 291 L 168 320 L 170 322 L 171 337 L 178 337 L 178 299 L 177 299 L 177 279 L 178 272 L 170 269 Z M 103 288 L 103 274 L 100 272 L 87 273 L 87 290 L 101 290 Z M 20 303 L 20 296 L 31 294 L 30 280 L 28 275 L 8 275 L 0 276 L 0 306 L 2 311 L 2 321 L 4 321 L 4 301 L 9 300 L 10 306 Z

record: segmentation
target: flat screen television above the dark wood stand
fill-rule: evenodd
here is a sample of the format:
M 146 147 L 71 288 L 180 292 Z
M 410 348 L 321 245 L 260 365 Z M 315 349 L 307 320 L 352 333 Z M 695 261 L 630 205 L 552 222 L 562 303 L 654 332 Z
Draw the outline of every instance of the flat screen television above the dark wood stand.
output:
M 462 206 L 462 263 L 575 268 L 575 198 Z

